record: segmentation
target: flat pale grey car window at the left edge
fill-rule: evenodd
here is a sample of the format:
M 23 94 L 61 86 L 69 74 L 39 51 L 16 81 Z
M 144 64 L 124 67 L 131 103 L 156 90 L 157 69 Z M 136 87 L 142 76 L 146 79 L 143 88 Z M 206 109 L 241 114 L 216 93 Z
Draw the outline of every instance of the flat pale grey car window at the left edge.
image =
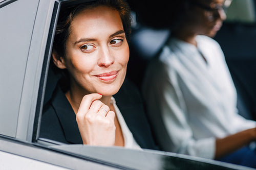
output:
M 15 137 L 38 1 L 6 4 L 0 4 L 0 134 Z

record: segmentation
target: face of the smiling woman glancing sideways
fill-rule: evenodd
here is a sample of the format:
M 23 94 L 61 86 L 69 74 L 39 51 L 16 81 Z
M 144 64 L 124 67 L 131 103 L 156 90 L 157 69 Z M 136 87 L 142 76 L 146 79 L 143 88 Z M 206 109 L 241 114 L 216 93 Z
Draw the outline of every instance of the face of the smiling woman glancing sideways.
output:
M 123 83 L 128 60 L 129 46 L 116 10 L 99 6 L 74 17 L 63 57 L 71 88 L 113 95 Z

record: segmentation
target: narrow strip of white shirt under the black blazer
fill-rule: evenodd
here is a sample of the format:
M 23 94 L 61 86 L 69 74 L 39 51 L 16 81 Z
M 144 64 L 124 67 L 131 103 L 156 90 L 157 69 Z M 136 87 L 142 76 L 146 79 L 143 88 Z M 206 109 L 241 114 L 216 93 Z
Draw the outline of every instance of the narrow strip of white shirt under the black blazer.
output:
M 124 118 L 123 118 L 120 110 L 118 109 L 118 107 L 116 105 L 116 101 L 113 97 L 111 98 L 111 104 L 113 104 L 113 106 L 114 106 L 116 117 L 118 119 L 118 122 L 119 122 L 121 130 L 122 130 L 123 139 L 124 139 L 124 148 L 141 149 L 140 146 L 138 145 L 138 143 L 135 141 L 132 132 L 127 127 L 127 125 L 124 121 Z

